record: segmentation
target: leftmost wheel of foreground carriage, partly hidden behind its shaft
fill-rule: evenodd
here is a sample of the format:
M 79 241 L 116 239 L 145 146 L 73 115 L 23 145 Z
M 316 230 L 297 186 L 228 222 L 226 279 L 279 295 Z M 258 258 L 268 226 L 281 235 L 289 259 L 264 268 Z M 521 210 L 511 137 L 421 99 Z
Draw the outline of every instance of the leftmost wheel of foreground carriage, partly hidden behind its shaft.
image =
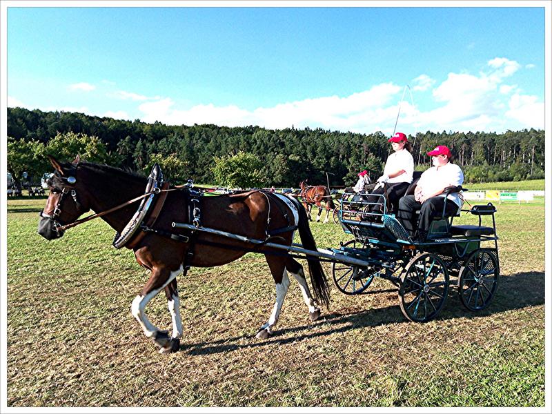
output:
M 349 240 L 343 245 L 350 248 L 357 248 L 357 246 L 360 248 L 361 244 L 356 240 Z M 333 282 L 345 295 L 358 295 L 364 292 L 377 273 L 379 272 L 366 267 L 336 262 L 332 264 Z

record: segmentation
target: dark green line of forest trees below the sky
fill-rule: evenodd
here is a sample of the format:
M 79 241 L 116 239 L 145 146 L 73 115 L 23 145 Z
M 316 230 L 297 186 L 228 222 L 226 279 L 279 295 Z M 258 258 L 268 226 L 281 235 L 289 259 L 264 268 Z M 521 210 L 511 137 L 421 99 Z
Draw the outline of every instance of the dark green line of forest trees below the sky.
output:
M 360 170 L 379 176 L 391 152 L 388 137 L 382 132 L 359 134 L 293 126 L 282 130 L 212 124 L 168 126 L 25 108 L 8 108 L 7 121 L 8 170 L 16 179 L 21 168 L 32 175 L 50 171 L 46 154 L 70 161 L 77 155 L 70 152 L 78 151 L 88 161 L 136 171 L 147 171 L 158 162 L 175 184 L 191 178 L 198 183 L 224 185 L 218 182 L 224 181 L 224 171 L 244 168 L 257 186 L 297 187 L 307 178 L 311 184 L 321 184 L 326 182 L 326 172 L 331 185 L 348 186 L 354 184 Z M 427 131 L 415 136 L 402 132 L 413 144 L 417 170 L 431 166 L 428 150 L 446 145 L 454 162 L 464 170 L 466 182 L 544 178 L 544 130 L 501 134 Z M 255 174 L 244 160 L 255 164 Z

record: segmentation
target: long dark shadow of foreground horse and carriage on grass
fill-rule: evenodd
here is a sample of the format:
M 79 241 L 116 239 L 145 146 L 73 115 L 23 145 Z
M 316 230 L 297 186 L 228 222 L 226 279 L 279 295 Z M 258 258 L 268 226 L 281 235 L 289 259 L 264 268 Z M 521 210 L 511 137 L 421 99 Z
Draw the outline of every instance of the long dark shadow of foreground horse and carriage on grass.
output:
M 489 315 L 526 308 L 527 306 L 539 306 L 544 304 L 544 272 L 516 273 L 515 275 L 501 277 L 498 283 L 497 293 L 495 297 L 493 297 L 491 304 L 488 308 L 479 312 L 471 312 L 464 308 L 458 298 L 455 286 L 451 286 L 451 288 L 449 288 L 449 297 L 447 297 L 442 313 L 437 315 L 437 320 L 456 319 L 460 317 L 467 317 L 470 319 L 487 317 Z M 380 290 L 380 292 L 386 291 L 388 290 Z M 295 328 L 286 328 L 276 331 L 273 337 L 265 341 L 257 340 L 253 335 L 242 335 L 218 341 L 201 342 L 199 344 L 182 344 L 180 346 L 180 351 L 186 351 L 190 355 L 208 355 L 235 351 L 242 348 L 257 348 L 269 344 L 288 344 L 290 342 L 302 341 L 313 337 L 326 337 L 328 335 L 334 335 L 335 333 L 344 333 L 353 329 L 370 328 L 385 324 L 413 324 L 415 322 L 408 322 L 403 317 L 397 301 L 397 305 L 395 306 L 375 308 L 368 311 L 329 313 L 315 322 L 315 324 L 320 323 L 326 326 L 335 326 L 335 328 L 329 328 L 324 332 L 308 333 L 308 331 L 313 328 L 313 325 L 297 326 Z M 346 325 L 342 326 L 343 324 Z M 278 337 L 288 333 L 302 334 L 278 339 Z M 250 343 L 235 343 L 242 339 L 250 339 Z

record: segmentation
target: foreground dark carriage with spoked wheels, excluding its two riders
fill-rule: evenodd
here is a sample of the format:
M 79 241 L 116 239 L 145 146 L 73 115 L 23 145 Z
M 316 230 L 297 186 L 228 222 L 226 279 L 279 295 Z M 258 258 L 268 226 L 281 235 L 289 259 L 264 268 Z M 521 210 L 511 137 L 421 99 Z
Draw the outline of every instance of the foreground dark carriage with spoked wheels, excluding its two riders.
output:
M 450 187 L 446 193 L 462 190 Z M 493 204 L 461 210 L 476 217 L 473 225 L 456 226 L 453 220 L 460 212 L 446 217 L 443 210 L 433 220 L 426 242 L 420 243 L 387 212 L 385 196 L 379 197 L 377 204 L 385 213 L 373 213 L 374 203 L 342 198 L 339 222 L 353 239 L 333 248 L 333 253 L 365 262 L 364 266 L 339 258 L 333 262 L 333 279 L 342 293 L 357 295 L 375 277 L 388 279 L 399 290 L 402 313 L 414 322 L 428 322 L 440 313 L 451 284 L 470 311 L 489 306 L 500 274 Z

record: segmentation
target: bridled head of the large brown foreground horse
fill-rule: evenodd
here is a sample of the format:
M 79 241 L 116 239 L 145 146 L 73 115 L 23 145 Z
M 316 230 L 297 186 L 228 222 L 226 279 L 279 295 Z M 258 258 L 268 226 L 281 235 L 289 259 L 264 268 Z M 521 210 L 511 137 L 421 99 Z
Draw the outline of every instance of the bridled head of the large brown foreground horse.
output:
M 48 158 L 55 172 L 48 180 L 50 195 L 40 213 L 38 233 L 47 240 L 53 240 L 63 236 L 61 226 L 72 223 L 90 210 L 90 204 L 81 190 L 82 177 L 77 168 L 79 156 L 71 164 L 60 164 L 53 157 Z

